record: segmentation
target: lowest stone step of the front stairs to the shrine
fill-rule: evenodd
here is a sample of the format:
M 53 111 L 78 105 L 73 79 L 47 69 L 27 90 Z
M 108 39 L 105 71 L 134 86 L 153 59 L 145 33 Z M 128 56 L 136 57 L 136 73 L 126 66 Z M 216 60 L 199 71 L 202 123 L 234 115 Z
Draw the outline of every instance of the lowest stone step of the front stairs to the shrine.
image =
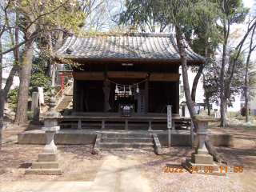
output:
M 100 148 L 144 148 L 153 147 L 152 142 L 101 142 Z

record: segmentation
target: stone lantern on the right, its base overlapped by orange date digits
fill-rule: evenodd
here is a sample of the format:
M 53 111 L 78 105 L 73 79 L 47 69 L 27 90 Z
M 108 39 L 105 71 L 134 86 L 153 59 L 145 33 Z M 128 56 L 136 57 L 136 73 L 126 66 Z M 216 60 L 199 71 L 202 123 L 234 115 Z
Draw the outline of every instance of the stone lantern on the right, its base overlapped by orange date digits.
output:
M 206 136 L 210 132 L 208 122 L 213 119 L 206 115 L 205 110 L 198 110 L 198 114 L 194 115 L 192 119 L 195 127 L 194 132 L 198 136 L 198 146 L 195 152 L 191 154 L 191 159 L 182 162 L 182 166 L 193 174 L 220 174 L 219 166 L 214 163 L 214 158 L 209 154 L 205 144 Z

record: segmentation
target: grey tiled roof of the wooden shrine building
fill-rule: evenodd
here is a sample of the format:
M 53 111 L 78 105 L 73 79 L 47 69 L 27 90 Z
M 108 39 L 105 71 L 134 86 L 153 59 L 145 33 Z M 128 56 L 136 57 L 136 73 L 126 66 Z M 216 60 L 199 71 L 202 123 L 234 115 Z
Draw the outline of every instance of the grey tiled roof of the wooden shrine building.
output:
M 203 61 L 183 40 L 188 61 Z M 94 36 L 66 38 L 57 51 L 65 58 L 84 59 L 146 59 L 146 60 L 180 60 L 178 47 L 173 34 L 135 34 L 134 36 Z

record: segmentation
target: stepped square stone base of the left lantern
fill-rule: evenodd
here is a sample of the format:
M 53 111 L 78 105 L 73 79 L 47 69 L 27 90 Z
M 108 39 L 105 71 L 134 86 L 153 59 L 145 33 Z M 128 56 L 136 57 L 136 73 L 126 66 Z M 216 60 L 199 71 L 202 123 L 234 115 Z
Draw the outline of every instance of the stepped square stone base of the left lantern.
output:
M 25 174 L 62 174 L 69 166 L 69 162 L 61 157 L 61 152 L 38 154 L 38 162 L 25 170 Z

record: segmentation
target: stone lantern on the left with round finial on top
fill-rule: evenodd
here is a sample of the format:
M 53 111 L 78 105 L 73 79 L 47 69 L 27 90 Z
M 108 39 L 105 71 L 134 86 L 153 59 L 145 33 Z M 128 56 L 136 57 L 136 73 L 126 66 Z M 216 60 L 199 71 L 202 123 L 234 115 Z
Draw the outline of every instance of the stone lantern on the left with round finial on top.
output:
M 62 118 L 62 115 L 54 109 L 55 102 L 56 98 L 49 98 L 47 104 L 49 109 L 40 115 L 40 118 L 45 119 L 42 130 L 46 131 L 46 146 L 42 149 L 42 153 L 38 154 L 38 162 L 34 162 L 25 174 L 62 174 L 69 165 L 54 144 L 54 135 L 57 130 L 60 130 L 57 119 Z

